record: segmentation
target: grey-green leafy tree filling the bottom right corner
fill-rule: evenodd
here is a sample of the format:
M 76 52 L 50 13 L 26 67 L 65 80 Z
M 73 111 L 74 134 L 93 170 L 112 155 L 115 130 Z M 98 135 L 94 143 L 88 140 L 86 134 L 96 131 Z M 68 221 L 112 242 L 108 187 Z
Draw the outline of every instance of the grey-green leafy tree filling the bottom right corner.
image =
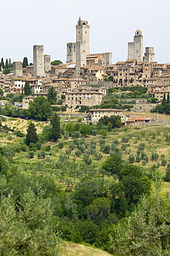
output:
M 169 196 L 160 196 L 160 181 L 151 196 L 143 196 L 131 216 L 113 226 L 114 255 L 169 255 Z

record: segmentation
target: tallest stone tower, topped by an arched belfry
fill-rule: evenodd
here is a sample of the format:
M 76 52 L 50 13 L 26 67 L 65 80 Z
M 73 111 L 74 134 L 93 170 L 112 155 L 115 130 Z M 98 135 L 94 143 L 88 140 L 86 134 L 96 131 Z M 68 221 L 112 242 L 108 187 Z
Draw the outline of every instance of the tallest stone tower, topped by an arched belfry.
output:
M 90 25 L 79 17 L 76 28 L 76 42 L 86 42 L 86 55 L 90 54 Z

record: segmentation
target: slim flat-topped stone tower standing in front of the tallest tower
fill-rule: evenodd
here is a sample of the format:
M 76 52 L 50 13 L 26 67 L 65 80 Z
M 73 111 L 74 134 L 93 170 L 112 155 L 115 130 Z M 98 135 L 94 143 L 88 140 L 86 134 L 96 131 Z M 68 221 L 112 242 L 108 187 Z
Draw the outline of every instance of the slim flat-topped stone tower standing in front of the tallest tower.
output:
M 76 42 L 76 77 L 81 77 L 81 68 L 86 66 L 86 42 Z

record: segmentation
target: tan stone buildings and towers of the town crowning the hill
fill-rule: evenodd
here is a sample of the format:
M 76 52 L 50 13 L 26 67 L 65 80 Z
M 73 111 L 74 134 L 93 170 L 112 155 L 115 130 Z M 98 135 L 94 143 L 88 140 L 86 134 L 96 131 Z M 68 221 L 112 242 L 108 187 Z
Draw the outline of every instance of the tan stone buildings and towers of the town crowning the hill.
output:
M 26 95 L 22 102 L 15 105 L 19 104 L 23 109 L 28 109 L 30 101 L 39 96 L 47 97 L 48 90 L 53 87 L 57 92 L 57 104 L 64 106 L 67 113 L 75 113 L 81 106 L 87 106 L 89 109 L 100 106 L 109 88 L 143 86 L 157 103 L 169 97 L 170 64 L 156 62 L 153 47 L 145 47 L 143 53 L 142 31 L 136 30 L 133 42 L 128 43 L 127 60 L 113 64 L 112 53 L 91 53 L 88 21 L 79 17 L 75 28 L 76 42 L 69 42 L 66 45 L 65 64 L 53 65 L 50 55 L 44 54 L 44 45 L 35 45 L 33 64 L 23 68 L 22 62 L 15 61 L 12 63 L 12 72 L 6 75 L 3 74 L 1 66 L 0 88 L 3 96 L 10 93 L 23 95 L 27 81 L 32 95 Z M 140 111 L 153 108 L 147 105 L 146 109 L 144 103 L 149 104 L 147 99 L 136 100 L 135 103 L 138 103 L 135 109 Z M 108 111 L 105 109 L 103 115 L 102 112 L 100 114 L 100 107 L 97 109 L 98 119 L 104 115 L 111 116 L 108 113 L 110 107 Z M 98 120 L 97 116 L 95 117 L 92 121 Z M 122 116 L 124 122 L 127 118 L 129 116 Z

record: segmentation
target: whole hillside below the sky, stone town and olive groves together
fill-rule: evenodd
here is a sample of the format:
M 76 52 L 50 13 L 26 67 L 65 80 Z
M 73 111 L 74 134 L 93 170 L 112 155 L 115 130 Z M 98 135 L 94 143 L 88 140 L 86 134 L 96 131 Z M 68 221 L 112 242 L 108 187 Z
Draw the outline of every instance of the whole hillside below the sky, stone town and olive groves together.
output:
M 75 28 L 64 64 L 0 62 L 0 255 L 169 255 L 170 64 Z

